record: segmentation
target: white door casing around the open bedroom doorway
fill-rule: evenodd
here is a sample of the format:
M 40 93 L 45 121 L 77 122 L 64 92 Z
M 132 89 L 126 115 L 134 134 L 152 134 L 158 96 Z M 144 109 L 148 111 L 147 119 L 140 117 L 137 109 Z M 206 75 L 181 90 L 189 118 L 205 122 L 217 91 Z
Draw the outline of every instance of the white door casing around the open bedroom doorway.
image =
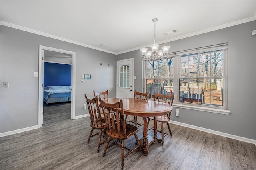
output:
M 53 58 L 49 58 L 49 54 L 52 55 Z M 60 55 L 62 54 L 62 56 Z M 58 56 L 54 56 L 54 55 L 58 55 Z M 64 55 L 66 56 L 70 56 L 70 57 L 64 57 Z M 72 86 L 72 90 L 71 90 L 71 119 L 75 119 L 75 52 L 72 51 L 66 51 L 66 50 L 62 50 L 62 49 L 56 49 L 56 48 L 52 48 L 52 47 L 46 47 L 46 46 L 41 46 L 40 45 L 40 49 L 39 49 L 39 100 L 38 100 L 38 125 L 39 127 L 42 127 L 43 124 L 43 116 L 44 116 L 44 98 L 43 98 L 43 91 L 44 91 L 44 61 L 52 61 L 54 62 L 58 62 L 58 61 L 62 61 L 62 63 L 64 62 L 70 62 L 71 64 L 71 86 Z M 69 61 L 70 60 L 70 61 Z

